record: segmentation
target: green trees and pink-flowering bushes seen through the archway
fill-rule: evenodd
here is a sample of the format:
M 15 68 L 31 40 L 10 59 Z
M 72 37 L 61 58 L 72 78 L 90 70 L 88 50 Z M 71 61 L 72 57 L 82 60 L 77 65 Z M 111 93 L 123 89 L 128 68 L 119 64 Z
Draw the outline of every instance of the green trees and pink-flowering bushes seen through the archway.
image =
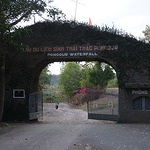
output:
M 44 79 L 46 69 L 43 70 Z M 112 68 L 109 65 L 102 67 L 99 62 L 84 65 L 76 62 L 65 63 L 60 74 L 60 85 L 44 86 L 44 102 L 62 102 L 69 96 L 72 104 L 80 105 L 87 100 L 98 99 L 102 89 L 114 77 Z M 75 90 L 78 92 L 73 92 Z

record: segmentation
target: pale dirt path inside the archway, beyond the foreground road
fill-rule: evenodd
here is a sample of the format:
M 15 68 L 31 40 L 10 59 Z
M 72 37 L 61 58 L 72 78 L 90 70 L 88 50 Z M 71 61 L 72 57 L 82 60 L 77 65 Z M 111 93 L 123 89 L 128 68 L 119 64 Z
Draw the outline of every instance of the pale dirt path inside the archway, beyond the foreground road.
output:
M 87 111 L 75 109 L 67 103 L 60 103 L 59 109 L 55 109 L 55 103 L 44 103 L 44 122 L 67 122 L 67 123 L 99 123 L 102 121 L 88 120 Z

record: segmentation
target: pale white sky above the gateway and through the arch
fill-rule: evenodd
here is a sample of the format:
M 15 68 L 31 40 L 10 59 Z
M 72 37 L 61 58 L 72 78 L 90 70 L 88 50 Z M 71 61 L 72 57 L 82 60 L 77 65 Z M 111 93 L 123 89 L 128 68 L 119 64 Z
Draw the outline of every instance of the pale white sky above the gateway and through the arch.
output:
M 93 25 L 115 26 L 136 38 L 142 38 L 142 31 L 150 25 L 150 0 L 54 0 L 52 5 L 62 10 L 68 20 L 88 23 L 91 18 Z M 51 64 L 52 74 L 59 74 L 60 66 Z

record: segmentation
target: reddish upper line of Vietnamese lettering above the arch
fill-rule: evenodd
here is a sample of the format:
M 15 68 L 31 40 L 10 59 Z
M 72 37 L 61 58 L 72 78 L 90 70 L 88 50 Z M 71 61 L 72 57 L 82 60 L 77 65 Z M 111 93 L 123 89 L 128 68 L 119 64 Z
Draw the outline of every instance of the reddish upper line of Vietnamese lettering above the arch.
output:
M 89 52 L 89 51 L 102 51 L 102 50 L 118 50 L 118 45 L 86 45 L 86 46 L 54 46 L 54 47 L 29 47 L 27 52 Z

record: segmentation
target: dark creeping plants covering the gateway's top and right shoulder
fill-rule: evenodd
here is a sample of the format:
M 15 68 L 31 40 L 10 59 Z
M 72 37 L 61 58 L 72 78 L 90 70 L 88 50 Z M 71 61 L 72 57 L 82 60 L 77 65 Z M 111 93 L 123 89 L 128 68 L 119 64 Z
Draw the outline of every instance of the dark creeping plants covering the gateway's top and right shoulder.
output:
M 129 78 L 131 79 L 133 76 L 131 71 L 129 71 L 131 68 L 133 70 L 142 70 L 147 68 L 150 63 L 149 60 L 145 59 L 150 56 L 150 45 L 137 40 L 131 34 L 116 29 L 115 27 L 89 27 L 86 23 L 76 22 L 76 26 L 72 28 L 71 21 L 63 21 L 37 23 L 34 26 L 30 26 L 30 28 L 32 29 L 34 38 L 38 37 L 39 33 L 37 31 L 39 29 L 43 35 L 46 35 L 40 38 L 40 40 L 43 39 L 43 45 L 47 45 L 47 43 L 44 43 L 44 41 L 47 40 L 49 40 L 49 45 L 57 46 L 118 45 L 118 50 L 97 52 L 97 59 L 99 61 L 102 59 L 104 62 L 110 62 L 110 65 L 112 65 L 117 72 L 119 87 L 122 88 L 124 88 L 124 83 L 128 82 Z M 33 38 L 32 35 L 30 36 L 31 39 Z M 31 42 L 25 41 L 31 47 L 33 46 Z M 38 39 L 34 41 L 36 41 L 34 44 L 36 44 L 37 47 L 41 46 Z M 144 66 L 141 65 L 143 61 L 146 63 Z M 111 64 L 111 62 L 113 63 Z

